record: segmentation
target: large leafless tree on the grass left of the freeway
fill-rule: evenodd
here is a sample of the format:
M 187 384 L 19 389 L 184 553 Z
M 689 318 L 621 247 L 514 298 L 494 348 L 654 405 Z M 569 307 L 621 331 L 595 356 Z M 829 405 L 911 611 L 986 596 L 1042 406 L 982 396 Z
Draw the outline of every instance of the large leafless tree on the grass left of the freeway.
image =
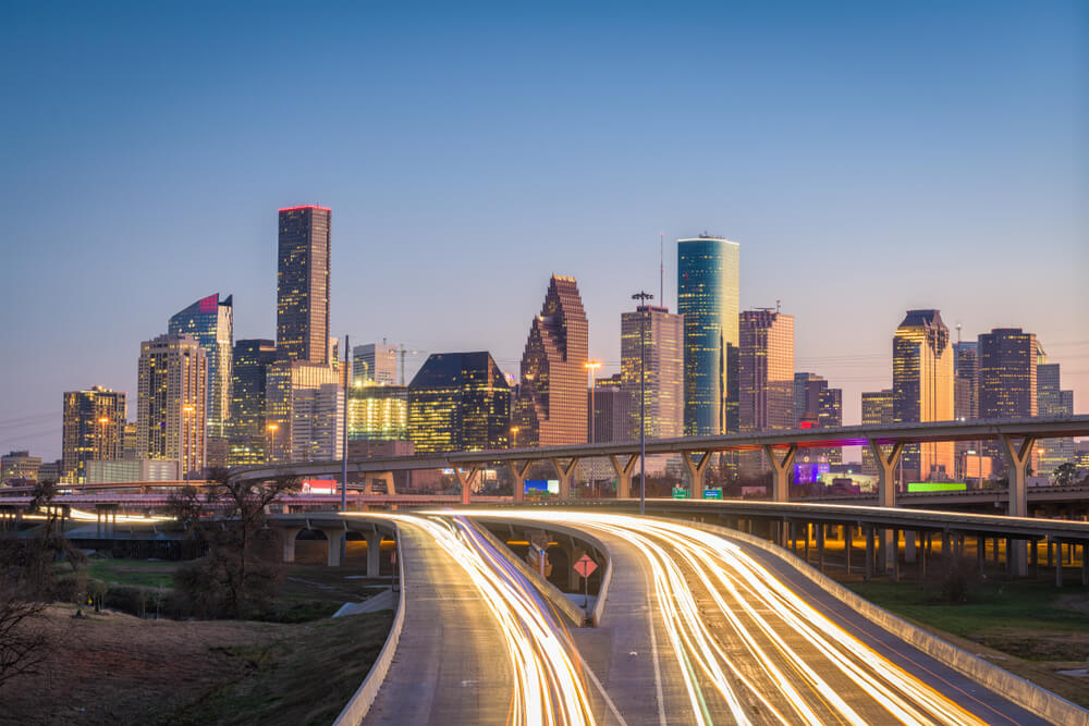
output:
M 240 481 L 231 479 L 227 469 L 215 468 L 208 481 L 204 501 L 195 490 L 171 500 L 182 526 L 208 544 L 208 554 L 179 570 L 176 581 L 201 615 L 240 617 L 255 605 L 267 604 L 276 592 L 279 568 L 262 561 L 258 552 L 270 537 L 266 509 L 281 494 L 297 490 L 298 480 Z M 203 518 L 209 507 L 219 508 L 222 518 Z

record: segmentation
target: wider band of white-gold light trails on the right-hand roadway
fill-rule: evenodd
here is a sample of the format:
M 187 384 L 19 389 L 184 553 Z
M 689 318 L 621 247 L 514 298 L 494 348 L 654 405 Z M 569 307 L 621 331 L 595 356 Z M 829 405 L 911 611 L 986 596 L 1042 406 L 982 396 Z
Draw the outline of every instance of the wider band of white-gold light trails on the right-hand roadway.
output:
M 621 538 L 647 558 L 693 722 L 981 724 L 806 602 L 745 549 L 678 522 L 475 510 Z M 671 721 L 678 714 L 670 714 Z

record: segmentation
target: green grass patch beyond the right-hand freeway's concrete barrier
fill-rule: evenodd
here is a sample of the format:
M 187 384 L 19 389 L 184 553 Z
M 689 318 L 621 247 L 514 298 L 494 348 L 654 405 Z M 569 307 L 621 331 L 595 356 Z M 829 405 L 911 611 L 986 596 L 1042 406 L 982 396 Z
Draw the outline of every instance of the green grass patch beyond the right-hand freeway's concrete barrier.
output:
M 1089 706 L 1089 679 L 1056 674 L 1089 657 L 1089 588 L 1043 582 L 971 586 L 951 604 L 937 585 L 847 580 L 870 602 L 1023 678 Z

